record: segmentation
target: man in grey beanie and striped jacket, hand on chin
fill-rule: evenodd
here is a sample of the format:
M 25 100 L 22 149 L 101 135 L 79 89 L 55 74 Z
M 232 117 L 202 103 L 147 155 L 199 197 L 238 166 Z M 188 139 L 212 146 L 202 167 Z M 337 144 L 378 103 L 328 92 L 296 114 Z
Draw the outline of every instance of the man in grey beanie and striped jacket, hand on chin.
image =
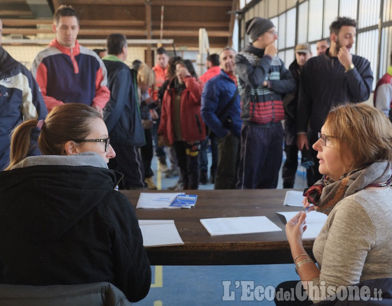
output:
M 282 162 L 282 95 L 295 81 L 276 54 L 278 34 L 271 20 L 246 22 L 252 43 L 235 57 L 241 94 L 241 149 L 237 188 L 276 188 Z

